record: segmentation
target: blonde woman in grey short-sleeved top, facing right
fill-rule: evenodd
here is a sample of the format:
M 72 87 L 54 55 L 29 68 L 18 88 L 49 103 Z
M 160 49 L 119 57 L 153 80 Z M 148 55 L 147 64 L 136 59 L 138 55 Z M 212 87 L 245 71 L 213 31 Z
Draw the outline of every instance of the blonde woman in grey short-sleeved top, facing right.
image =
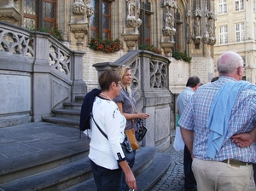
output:
M 121 78 L 121 84 L 122 89 L 119 91 L 119 96 L 116 96 L 113 101 L 116 102 L 117 106 L 119 107 L 119 111 L 123 113 L 126 119 L 126 126 L 125 130 L 131 130 L 133 129 L 134 133 L 136 131 L 136 119 L 148 119 L 149 115 L 148 113 L 136 113 L 135 111 L 135 105 L 136 101 L 133 96 L 133 92 L 131 90 L 131 68 L 128 66 L 119 66 L 116 69 L 116 72 L 119 74 Z M 134 150 L 135 153 L 135 150 Z M 129 163 L 130 167 L 132 167 L 134 164 Z M 124 177 L 124 176 L 122 176 Z M 122 178 L 121 182 L 122 188 L 120 190 L 125 191 L 129 190 L 127 187 L 124 178 Z

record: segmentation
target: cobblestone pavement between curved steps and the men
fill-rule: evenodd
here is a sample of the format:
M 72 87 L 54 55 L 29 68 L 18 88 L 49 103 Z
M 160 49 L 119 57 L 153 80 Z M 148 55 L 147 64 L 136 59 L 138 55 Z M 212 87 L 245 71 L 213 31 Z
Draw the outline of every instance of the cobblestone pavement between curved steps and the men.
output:
M 172 130 L 172 144 L 174 142 L 175 130 Z M 166 150 L 165 153 L 170 153 L 172 162 L 167 169 L 166 174 L 161 177 L 160 181 L 156 183 L 151 191 L 182 191 L 183 180 L 183 151 L 177 152 L 173 145 Z

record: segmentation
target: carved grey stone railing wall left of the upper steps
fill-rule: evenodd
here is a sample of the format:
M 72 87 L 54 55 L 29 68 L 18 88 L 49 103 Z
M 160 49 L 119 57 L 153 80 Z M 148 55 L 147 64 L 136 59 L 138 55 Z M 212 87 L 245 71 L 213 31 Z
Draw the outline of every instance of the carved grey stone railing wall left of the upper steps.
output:
M 0 126 L 40 121 L 63 101 L 84 96 L 83 55 L 48 33 L 0 21 Z

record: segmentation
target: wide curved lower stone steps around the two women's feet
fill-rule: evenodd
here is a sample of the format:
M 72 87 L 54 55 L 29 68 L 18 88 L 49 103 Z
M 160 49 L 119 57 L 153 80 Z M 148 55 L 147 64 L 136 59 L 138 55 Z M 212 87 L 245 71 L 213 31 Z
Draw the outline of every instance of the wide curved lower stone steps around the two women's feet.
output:
M 85 145 L 88 146 L 88 142 Z M 50 153 L 46 151 L 45 156 L 28 158 L 21 166 L 14 164 L 11 169 L 2 170 L 0 190 L 96 191 L 87 157 L 88 147 L 78 144 L 76 148 L 79 149 L 72 154 L 55 154 L 55 159 L 47 157 Z M 157 153 L 156 148 L 145 147 L 138 149 L 135 161 L 132 170 L 137 178 L 137 190 L 143 191 L 150 190 L 166 172 L 171 157 L 167 153 Z

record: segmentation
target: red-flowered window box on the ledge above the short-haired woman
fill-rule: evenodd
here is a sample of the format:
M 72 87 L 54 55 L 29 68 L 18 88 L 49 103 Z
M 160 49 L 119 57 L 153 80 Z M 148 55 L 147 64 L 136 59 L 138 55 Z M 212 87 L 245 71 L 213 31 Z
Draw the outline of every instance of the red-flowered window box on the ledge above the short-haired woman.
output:
M 106 53 L 117 52 L 121 49 L 121 42 L 119 39 L 103 39 L 103 38 L 90 38 L 89 48 L 96 51 L 101 50 Z

